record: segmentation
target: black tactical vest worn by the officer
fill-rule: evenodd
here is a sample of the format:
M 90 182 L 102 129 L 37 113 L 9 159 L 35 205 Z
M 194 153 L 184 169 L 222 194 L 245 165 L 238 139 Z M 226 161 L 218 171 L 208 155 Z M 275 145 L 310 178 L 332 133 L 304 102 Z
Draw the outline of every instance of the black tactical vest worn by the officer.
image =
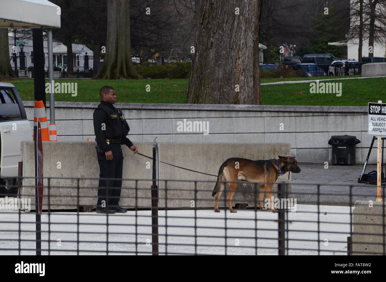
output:
M 130 131 L 129 124 L 122 118 L 122 110 L 110 108 L 105 104 L 99 104 L 98 109 L 102 109 L 108 116 L 106 122 L 106 138 L 120 138 L 127 136 Z

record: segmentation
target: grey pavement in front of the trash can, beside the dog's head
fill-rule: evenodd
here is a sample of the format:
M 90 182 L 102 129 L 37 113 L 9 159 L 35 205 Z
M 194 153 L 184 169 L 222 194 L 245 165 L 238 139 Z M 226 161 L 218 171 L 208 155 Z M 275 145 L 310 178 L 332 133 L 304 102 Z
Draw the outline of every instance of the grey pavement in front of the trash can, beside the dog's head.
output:
M 330 165 L 328 169 L 325 169 L 323 164 L 314 163 L 301 163 L 299 166 L 301 173 L 291 174 L 292 190 L 298 203 L 317 203 L 317 184 L 320 183 L 325 184 L 320 186 L 320 203 L 323 204 L 348 205 L 350 185 L 353 185 L 352 203 L 356 200 L 376 200 L 376 185 L 367 185 L 357 181 L 362 173 L 363 165 Z M 376 170 L 376 165 L 367 165 L 365 173 L 372 170 Z

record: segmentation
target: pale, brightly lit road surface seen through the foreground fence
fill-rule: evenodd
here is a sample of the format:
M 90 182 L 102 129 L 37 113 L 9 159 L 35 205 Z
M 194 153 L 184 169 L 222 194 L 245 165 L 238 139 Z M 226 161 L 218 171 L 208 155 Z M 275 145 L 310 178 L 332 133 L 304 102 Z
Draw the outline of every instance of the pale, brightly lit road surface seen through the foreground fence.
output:
M 347 206 L 297 205 L 288 213 L 289 255 L 346 255 L 350 234 L 350 208 Z M 352 208 L 351 208 L 352 211 Z M 196 215 L 196 220 L 194 219 Z M 165 228 L 167 218 L 168 228 Z M 318 224 L 319 218 L 319 240 Z M 19 253 L 19 213 L 2 211 L 0 220 L 0 255 Z M 50 245 L 48 246 L 48 220 Z M 79 237 L 77 233 L 79 220 Z M 160 254 L 278 254 L 278 214 L 271 211 L 239 210 L 214 213 L 213 210 L 159 211 Z M 35 254 L 35 214 L 22 213 L 20 248 L 22 255 Z M 97 213 L 52 212 L 42 214 L 42 255 L 151 254 L 151 211 L 130 211 L 108 216 Z M 257 228 L 257 232 L 255 231 Z M 167 236 L 166 236 L 167 235 Z M 257 240 L 256 240 L 257 237 Z M 196 238 L 196 241 L 195 241 Z M 325 240 L 328 239 L 328 246 Z M 79 240 L 79 245 L 77 241 Z M 167 242 L 167 249 L 166 249 Z M 196 244 L 196 247 L 195 247 Z

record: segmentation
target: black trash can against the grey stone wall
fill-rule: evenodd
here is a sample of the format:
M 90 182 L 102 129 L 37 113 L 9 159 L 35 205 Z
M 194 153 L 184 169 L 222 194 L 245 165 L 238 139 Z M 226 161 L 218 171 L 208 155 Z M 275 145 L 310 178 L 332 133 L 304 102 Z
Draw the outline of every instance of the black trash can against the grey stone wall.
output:
M 356 136 L 336 135 L 331 136 L 328 144 L 332 146 L 333 165 L 355 165 L 356 144 L 361 143 Z

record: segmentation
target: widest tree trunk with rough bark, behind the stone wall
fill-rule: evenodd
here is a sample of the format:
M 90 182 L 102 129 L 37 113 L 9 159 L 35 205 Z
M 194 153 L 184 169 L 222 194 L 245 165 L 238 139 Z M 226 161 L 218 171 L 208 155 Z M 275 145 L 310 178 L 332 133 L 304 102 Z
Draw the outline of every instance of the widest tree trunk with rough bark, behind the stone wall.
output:
M 200 1 L 188 103 L 261 104 L 260 2 Z

